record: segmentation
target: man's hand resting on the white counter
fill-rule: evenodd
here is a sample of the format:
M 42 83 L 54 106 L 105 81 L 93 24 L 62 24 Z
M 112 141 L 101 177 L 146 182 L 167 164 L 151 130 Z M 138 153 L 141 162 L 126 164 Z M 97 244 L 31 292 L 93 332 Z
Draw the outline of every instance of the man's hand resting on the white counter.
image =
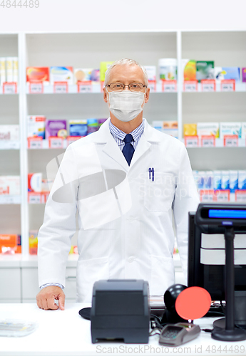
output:
M 58 309 L 58 305 L 54 302 L 54 300 L 58 300 L 59 308 L 64 310 L 65 304 L 65 294 L 60 287 L 57 286 L 48 286 L 40 290 L 40 292 L 36 296 L 37 305 L 39 308 L 48 310 L 56 310 Z

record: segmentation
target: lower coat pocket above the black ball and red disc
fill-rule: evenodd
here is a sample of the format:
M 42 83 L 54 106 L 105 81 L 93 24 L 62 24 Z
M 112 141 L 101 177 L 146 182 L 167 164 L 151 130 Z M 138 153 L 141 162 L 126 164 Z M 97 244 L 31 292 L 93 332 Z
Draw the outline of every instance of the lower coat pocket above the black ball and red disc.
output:
M 163 295 L 175 283 L 173 258 L 151 256 L 150 295 Z

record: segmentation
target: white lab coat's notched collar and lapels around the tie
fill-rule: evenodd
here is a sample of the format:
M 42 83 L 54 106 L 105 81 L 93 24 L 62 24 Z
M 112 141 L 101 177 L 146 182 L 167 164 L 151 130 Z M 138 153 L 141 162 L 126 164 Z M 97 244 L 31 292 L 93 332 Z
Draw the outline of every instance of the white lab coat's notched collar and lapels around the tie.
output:
M 103 125 L 101 125 L 100 129 L 97 132 L 96 137 L 94 137 L 94 142 L 96 143 L 106 143 L 106 145 L 103 147 L 103 152 L 106 152 L 107 155 L 112 157 L 118 164 L 121 164 L 123 169 L 125 169 L 126 172 L 133 167 L 133 164 L 138 161 L 138 159 L 147 151 L 149 150 L 151 143 L 150 142 L 160 142 L 160 133 L 153 129 L 151 127 L 147 120 L 145 120 L 145 127 L 143 131 L 143 135 L 140 137 L 140 140 L 138 142 L 138 145 L 135 149 L 133 159 L 130 162 L 130 166 L 128 166 L 128 163 L 125 160 L 125 157 L 123 156 L 123 153 L 119 149 L 116 140 L 113 138 L 111 135 L 111 132 L 109 130 L 108 124 L 109 124 L 110 118 L 106 120 L 106 122 L 103 122 Z

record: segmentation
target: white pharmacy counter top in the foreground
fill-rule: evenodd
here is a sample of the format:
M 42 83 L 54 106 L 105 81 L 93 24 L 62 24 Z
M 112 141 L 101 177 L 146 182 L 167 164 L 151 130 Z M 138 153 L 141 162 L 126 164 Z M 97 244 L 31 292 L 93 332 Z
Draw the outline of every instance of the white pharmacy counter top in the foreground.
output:
M 123 342 L 91 343 L 91 322 L 78 314 L 83 303 L 66 303 L 65 310 L 41 310 L 35 303 L 0 304 L 0 319 L 19 319 L 38 323 L 34 333 L 24 337 L 0 337 L 1 356 L 96 356 L 96 355 L 246 355 L 246 341 L 220 342 L 210 333 L 200 335 L 179 347 L 158 343 L 158 335 L 148 344 Z M 196 320 L 201 328 L 212 328 L 214 318 Z

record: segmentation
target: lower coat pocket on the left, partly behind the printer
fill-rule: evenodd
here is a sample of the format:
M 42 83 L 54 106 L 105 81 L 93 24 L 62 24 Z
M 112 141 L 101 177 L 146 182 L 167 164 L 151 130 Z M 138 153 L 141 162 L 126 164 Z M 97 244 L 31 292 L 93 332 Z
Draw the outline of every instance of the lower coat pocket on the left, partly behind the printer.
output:
M 94 283 L 108 278 L 108 257 L 78 261 L 76 302 L 91 303 Z

